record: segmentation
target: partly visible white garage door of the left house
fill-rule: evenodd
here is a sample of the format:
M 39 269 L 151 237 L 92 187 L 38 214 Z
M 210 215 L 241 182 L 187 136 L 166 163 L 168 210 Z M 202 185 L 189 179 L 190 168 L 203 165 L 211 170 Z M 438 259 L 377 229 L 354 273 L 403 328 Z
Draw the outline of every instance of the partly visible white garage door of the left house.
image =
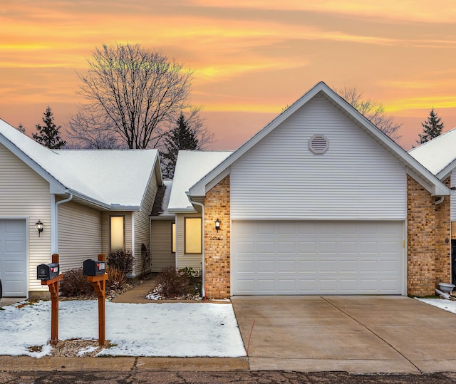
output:
M 27 296 L 25 220 L 0 219 L 0 279 L 3 296 Z

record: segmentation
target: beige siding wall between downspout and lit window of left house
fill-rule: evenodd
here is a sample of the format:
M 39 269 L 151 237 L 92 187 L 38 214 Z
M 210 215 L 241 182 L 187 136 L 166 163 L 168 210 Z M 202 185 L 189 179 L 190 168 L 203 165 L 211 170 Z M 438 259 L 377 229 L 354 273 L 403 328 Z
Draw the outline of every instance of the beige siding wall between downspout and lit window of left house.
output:
M 66 202 L 58 205 L 58 254 L 61 271 L 82 268 L 101 253 L 101 212 Z

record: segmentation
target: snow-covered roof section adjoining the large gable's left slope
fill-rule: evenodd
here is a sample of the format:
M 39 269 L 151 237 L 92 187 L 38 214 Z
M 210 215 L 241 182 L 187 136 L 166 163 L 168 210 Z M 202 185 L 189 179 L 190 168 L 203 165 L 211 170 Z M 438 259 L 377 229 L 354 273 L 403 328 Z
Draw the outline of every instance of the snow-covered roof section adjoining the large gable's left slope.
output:
M 192 203 L 185 192 L 231 154 L 232 151 L 180 150 L 168 210 L 193 211 Z

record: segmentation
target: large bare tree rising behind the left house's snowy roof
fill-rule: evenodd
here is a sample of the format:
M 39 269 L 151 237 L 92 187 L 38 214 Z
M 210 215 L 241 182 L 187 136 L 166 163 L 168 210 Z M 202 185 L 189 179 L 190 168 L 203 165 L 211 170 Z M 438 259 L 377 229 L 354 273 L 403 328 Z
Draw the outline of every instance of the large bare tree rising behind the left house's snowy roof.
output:
M 87 61 L 78 93 L 88 103 L 71 117 L 72 137 L 83 139 L 95 128 L 89 142 L 109 133 L 128 148 L 156 147 L 180 112 L 190 108 L 193 72 L 162 53 L 118 43 L 95 48 Z

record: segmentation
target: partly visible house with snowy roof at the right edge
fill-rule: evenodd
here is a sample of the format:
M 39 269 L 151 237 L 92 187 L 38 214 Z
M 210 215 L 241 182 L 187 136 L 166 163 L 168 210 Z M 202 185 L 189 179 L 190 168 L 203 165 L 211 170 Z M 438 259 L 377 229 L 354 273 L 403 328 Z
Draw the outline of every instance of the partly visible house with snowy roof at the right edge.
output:
M 413 148 L 409 153 L 439 180 L 451 188 L 451 196 L 440 204 L 450 204 L 452 243 L 452 284 L 456 283 L 456 128 Z M 442 244 L 446 247 L 446 244 Z

